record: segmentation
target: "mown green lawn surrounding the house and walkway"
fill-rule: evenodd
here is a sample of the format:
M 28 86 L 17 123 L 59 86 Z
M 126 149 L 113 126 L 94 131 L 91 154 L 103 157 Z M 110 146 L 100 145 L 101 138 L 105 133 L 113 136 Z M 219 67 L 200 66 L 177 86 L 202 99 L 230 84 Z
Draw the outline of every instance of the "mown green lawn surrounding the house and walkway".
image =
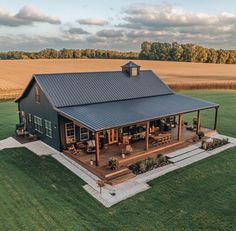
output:
M 221 105 L 219 131 L 236 137 L 236 92 L 184 92 Z M 0 139 L 16 123 L 0 104 Z M 208 113 L 202 113 L 210 125 Z M 2 130 L 3 127 L 3 130 Z M 77 176 L 27 149 L 0 151 L 0 230 L 236 230 L 236 149 L 150 182 L 152 188 L 106 209 Z

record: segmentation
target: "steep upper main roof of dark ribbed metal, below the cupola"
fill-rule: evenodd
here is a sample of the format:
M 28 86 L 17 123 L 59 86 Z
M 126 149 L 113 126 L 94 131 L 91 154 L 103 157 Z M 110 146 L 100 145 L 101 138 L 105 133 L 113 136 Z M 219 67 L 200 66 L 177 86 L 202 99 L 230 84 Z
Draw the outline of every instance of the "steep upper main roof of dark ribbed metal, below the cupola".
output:
M 140 71 L 135 78 L 126 72 L 85 72 L 34 75 L 54 107 L 110 102 L 172 94 L 152 71 Z

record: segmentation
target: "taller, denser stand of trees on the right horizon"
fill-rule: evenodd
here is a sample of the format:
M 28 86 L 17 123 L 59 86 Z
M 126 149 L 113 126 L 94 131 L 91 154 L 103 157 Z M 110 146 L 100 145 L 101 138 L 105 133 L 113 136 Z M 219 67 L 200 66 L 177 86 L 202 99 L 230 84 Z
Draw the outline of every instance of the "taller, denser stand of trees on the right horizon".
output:
M 206 48 L 195 44 L 143 42 L 139 59 L 198 62 L 198 63 L 236 63 L 236 50 Z

